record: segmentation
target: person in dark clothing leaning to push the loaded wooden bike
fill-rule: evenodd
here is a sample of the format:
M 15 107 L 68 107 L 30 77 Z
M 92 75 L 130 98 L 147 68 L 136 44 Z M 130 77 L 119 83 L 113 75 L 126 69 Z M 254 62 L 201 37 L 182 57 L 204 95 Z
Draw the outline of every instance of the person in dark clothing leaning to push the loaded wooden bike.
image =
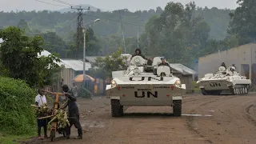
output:
M 78 129 L 78 137 L 75 139 L 82 139 L 82 126 L 79 122 L 79 110 L 78 110 L 78 105 L 76 104 L 77 98 L 74 96 L 73 91 L 70 90 L 68 86 L 63 85 L 62 90 L 66 93 L 66 100 L 69 100 L 66 106 L 69 107 L 68 112 L 69 112 L 70 126 L 67 126 L 66 128 L 66 138 L 67 139 L 70 138 L 71 126 L 74 125 L 74 127 Z M 64 106 L 63 108 L 65 109 L 66 106 Z

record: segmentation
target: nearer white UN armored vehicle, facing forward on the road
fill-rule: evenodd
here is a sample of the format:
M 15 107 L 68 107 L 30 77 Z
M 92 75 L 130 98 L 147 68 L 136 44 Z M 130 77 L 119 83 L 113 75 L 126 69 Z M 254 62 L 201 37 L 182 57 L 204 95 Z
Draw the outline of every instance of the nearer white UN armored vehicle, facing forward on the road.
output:
M 123 106 L 172 106 L 174 116 L 181 116 L 186 85 L 170 73 L 169 66 L 158 66 L 160 62 L 159 57 L 148 62 L 134 56 L 127 70 L 112 72 L 113 80 L 106 86 L 112 117 L 123 116 Z

